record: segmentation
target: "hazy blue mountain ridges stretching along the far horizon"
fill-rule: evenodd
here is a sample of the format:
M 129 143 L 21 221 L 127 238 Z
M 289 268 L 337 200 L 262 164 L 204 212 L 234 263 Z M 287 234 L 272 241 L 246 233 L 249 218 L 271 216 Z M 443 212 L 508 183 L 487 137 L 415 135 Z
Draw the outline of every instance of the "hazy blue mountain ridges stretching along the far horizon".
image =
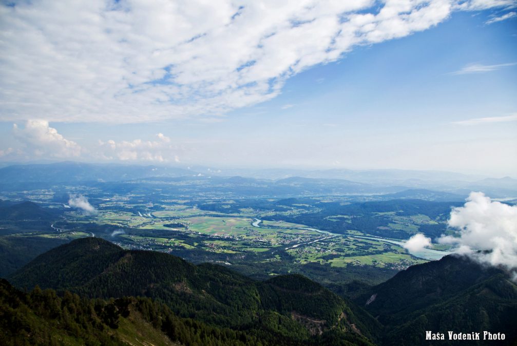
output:
M 183 179 L 181 178 L 183 177 Z M 260 194 L 268 193 L 396 193 L 408 189 L 427 189 L 468 195 L 472 190 L 483 191 L 491 197 L 517 198 L 517 180 L 511 177 L 484 178 L 440 171 L 412 170 L 293 170 L 293 169 L 210 169 L 173 166 L 140 166 L 136 164 L 83 163 L 65 161 L 45 164 L 16 164 L 0 168 L 0 188 L 44 189 L 49 184 L 77 184 L 79 182 L 148 182 L 198 179 L 216 184 L 230 184 Z M 211 178 L 211 180 L 210 180 Z

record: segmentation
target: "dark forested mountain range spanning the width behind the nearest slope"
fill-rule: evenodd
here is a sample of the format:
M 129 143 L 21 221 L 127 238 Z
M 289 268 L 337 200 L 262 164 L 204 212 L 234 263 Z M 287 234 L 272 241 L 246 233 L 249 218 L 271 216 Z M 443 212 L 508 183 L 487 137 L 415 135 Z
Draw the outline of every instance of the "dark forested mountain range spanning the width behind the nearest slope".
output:
M 164 304 L 169 320 L 179 321 L 178 328 L 185 328 L 188 319 L 219 333 L 229 327 L 248 344 L 461 344 L 425 341 L 429 329 L 445 334 L 488 330 L 506 336 L 493 344 L 517 342 L 517 285 L 509 274 L 452 255 L 409 267 L 374 287 L 358 285 L 345 297 L 300 275 L 256 281 L 218 265 L 193 265 L 170 254 L 123 250 L 107 240 L 82 238 L 39 255 L 8 279 L 22 290 L 53 289 L 60 295 L 70 291 L 87 299 L 101 298 L 104 306 L 114 304 L 112 309 L 122 316 L 117 315 L 118 321 L 124 323 L 124 304 L 134 311 L 140 304 L 134 299 L 143 298 L 125 298 L 125 303 L 109 299 L 146 297 L 152 306 Z M 12 294 L 24 302 L 28 299 L 3 284 L 5 301 L 10 302 Z M 29 300 L 23 304 L 34 309 Z M 39 318 L 53 323 L 50 317 Z M 0 319 L 5 329 L 5 314 Z M 170 328 L 158 328 L 157 333 L 168 335 Z M 72 337 L 69 330 L 66 333 Z M 180 344 L 202 344 L 185 340 Z

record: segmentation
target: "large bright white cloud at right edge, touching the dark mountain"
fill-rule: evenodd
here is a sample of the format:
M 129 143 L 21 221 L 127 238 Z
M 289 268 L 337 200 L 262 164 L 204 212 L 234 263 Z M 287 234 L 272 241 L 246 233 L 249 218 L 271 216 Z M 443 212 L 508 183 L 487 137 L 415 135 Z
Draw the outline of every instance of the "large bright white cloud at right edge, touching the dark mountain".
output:
M 459 237 L 442 236 L 440 243 L 453 244 L 455 252 L 481 263 L 517 269 L 517 205 L 470 192 L 464 206 L 452 209 L 448 224 L 460 231 Z

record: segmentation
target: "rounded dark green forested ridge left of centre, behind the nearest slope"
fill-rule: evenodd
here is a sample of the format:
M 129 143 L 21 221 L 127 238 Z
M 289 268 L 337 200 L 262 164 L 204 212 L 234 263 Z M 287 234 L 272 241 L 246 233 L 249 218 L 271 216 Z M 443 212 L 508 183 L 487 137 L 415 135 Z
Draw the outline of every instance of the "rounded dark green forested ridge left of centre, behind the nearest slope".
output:
M 41 254 L 10 280 L 19 288 L 39 285 L 92 298 L 150 297 L 179 317 L 247 330 L 273 344 L 278 337 L 297 344 L 336 335 L 343 342 L 369 344 L 367 338 L 375 339 L 377 332 L 373 319 L 363 323 L 342 298 L 305 277 L 255 281 L 166 253 L 123 250 L 100 238 L 74 240 Z

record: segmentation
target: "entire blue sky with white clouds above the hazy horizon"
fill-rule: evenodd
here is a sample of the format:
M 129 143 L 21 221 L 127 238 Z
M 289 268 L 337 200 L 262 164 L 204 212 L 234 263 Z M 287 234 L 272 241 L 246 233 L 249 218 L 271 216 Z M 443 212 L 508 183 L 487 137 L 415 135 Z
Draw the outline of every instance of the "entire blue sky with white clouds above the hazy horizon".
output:
M 0 5 L 0 161 L 517 178 L 517 2 Z

